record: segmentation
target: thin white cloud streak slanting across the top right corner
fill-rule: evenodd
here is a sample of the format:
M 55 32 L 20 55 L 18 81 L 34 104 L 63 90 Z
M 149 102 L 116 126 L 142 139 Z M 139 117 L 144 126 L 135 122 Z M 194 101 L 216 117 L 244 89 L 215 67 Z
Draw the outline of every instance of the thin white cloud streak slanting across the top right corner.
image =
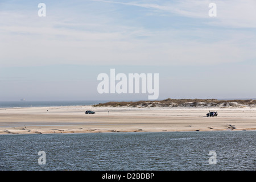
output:
M 188 18 L 209 19 L 209 25 L 237 28 L 256 28 L 256 1 L 255 0 L 184 0 L 184 1 L 153 1 L 157 3 L 119 2 L 106 0 L 91 0 L 104 3 L 138 6 L 146 9 L 154 9 L 174 13 Z M 152 1 L 151 1 L 152 2 Z M 216 3 L 217 17 L 209 17 L 209 4 Z

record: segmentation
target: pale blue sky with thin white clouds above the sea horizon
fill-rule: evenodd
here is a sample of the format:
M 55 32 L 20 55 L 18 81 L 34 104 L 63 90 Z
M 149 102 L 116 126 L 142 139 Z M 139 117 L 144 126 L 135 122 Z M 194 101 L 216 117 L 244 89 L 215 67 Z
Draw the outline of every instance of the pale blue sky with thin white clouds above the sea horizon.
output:
M 39 3 L 46 16 L 39 16 Z M 216 15 L 209 16 L 210 3 Z M 0 1 L 0 101 L 147 100 L 97 76 L 159 73 L 159 100 L 256 98 L 256 1 Z

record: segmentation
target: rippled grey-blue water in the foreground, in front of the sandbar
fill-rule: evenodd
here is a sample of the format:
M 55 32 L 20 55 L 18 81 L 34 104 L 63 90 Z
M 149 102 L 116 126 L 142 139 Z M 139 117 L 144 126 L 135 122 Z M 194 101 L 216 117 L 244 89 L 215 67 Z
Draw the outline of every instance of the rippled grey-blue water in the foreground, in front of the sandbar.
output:
M 256 131 L 0 135 L 0 170 L 255 170 L 255 136 Z

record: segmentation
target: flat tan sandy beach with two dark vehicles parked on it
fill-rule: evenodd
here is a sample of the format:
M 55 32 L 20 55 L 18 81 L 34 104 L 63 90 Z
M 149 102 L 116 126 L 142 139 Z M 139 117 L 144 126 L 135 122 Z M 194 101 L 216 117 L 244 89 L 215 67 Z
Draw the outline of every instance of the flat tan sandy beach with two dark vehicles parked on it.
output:
M 85 114 L 93 110 L 96 114 Z M 0 134 L 255 130 L 255 108 L 20 107 L 0 109 Z

